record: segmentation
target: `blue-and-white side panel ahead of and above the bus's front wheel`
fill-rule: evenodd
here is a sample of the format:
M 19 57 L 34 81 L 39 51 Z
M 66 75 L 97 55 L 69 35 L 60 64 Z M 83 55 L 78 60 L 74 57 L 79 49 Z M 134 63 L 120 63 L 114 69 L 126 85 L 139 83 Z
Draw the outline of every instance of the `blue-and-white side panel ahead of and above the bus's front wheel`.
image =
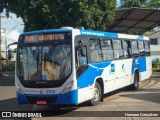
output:
M 105 67 L 108 63 L 92 63 L 88 65 L 88 69 L 77 79 L 78 103 L 93 98 L 94 84 L 97 78 L 101 78 Z

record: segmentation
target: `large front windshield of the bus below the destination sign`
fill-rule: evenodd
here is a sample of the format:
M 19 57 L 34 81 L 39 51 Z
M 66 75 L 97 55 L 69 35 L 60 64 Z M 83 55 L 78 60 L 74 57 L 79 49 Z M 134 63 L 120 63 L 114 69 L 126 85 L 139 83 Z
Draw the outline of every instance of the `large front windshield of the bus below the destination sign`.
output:
M 17 60 L 17 73 L 23 80 L 60 80 L 71 73 L 71 45 L 22 46 Z

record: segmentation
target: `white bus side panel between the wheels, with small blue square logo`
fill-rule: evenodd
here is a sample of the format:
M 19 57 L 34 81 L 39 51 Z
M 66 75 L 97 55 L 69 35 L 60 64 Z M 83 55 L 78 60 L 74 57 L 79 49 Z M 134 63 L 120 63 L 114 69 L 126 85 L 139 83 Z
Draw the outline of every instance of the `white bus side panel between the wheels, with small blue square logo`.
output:
M 104 93 L 133 84 L 132 59 L 112 61 L 102 73 Z

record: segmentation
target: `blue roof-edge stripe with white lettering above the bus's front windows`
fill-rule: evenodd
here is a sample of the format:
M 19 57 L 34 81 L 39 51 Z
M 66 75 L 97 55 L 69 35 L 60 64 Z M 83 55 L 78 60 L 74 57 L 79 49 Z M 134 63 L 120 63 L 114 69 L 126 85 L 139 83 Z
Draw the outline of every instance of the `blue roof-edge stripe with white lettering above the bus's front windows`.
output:
M 110 38 L 118 38 L 117 33 L 110 33 L 110 32 L 99 32 L 99 31 L 92 31 L 92 30 L 80 30 L 81 35 L 84 36 L 101 36 L 101 37 L 110 37 Z

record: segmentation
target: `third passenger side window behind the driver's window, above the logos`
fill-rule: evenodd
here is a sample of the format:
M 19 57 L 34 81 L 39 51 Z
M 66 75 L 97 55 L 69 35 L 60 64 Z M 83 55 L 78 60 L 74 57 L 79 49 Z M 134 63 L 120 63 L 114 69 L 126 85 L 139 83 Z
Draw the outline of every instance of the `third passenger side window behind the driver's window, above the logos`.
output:
M 114 58 L 115 59 L 122 59 L 123 58 L 123 49 L 121 40 L 112 40 L 113 42 L 113 49 L 114 49 Z

